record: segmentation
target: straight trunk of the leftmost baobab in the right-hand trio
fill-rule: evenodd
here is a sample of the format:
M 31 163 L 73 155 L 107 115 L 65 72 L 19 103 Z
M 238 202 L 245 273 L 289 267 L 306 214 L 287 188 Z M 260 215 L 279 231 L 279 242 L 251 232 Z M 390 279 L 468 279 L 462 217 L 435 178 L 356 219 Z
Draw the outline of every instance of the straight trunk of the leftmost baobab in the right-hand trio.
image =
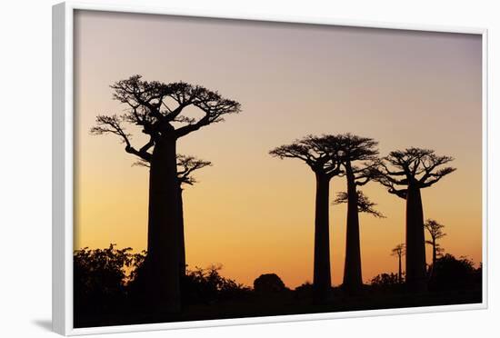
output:
M 324 302 L 332 286 L 328 221 L 329 185 L 330 178 L 328 176 L 325 174 L 316 174 L 315 263 L 313 280 L 316 302 Z

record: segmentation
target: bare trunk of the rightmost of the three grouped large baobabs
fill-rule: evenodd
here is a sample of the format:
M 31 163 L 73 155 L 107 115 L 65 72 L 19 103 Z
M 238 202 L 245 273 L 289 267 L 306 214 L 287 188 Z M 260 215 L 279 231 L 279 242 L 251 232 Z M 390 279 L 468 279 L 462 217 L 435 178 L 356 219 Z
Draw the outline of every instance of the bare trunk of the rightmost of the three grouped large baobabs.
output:
M 412 292 L 427 289 L 424 211 L 420 188 L 408 185 L 406 195 L 406 284 Z

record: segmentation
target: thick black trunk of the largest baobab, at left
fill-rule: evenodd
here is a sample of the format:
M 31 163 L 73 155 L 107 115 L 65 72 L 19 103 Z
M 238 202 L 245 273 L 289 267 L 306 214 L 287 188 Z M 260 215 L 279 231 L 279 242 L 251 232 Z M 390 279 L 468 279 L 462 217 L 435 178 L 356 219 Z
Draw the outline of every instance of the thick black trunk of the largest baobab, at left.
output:
M 175 139 L 155 143 L 149 171 L 146 294 L 155 311 L 180 310 L 179 192 Z

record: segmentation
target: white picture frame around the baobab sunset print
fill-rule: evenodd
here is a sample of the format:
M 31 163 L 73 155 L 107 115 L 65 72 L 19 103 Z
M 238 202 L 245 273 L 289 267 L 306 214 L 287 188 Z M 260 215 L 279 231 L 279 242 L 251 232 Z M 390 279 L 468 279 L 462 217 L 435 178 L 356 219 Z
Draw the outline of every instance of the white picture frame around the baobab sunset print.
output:
M 390 310 L 366 310 L 344 313 L 314 313 L 272 317 L 221 319 L 182 323 L 152 323 L 140 325 L 73 327 L 73 183 L 74 183 L 74 110 L 73 110 L 73 18 L 75 10 L 125 12 L 155 15 L 187 15 L 238 20 L 260 20 L 282 23 L 345 25 L 446 33 L 481 35 L 483 41 L 483 301 L 482 303 L 429 306 Z M 335 20 L 334 18 L 290 17 L 282 15 L 248 15 L 179 11 L 141 5 L 98 5 L 65 2 L 53 7 L 53 328 L 56 333 L 80 335 L 92 333 L 125 333 L 215 325 L 248 323 L 295 322 L 320 319 L 377 316 L 401 313 L 429 313 L 487 308 L 487 30 L 484 28 L 442 27 L 429 25 L 387 24 Z

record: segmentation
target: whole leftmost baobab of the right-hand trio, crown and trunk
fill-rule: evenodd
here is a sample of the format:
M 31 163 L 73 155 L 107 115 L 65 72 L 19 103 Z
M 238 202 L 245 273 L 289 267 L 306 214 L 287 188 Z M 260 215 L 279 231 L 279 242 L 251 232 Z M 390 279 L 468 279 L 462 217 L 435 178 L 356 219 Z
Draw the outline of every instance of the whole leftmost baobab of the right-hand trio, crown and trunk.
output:
M 293 144 L 282 145 L 269 154 L 278 158 L 304 161 L 315 173 L 315 262 L 313 288 L 316 301 L 323 301 L 332 286 L 330 273 L 330 232 L 328 199 L 330 181 L 342 174 L 338 152 L 340 142 L 334 135 L 305 136 Z

